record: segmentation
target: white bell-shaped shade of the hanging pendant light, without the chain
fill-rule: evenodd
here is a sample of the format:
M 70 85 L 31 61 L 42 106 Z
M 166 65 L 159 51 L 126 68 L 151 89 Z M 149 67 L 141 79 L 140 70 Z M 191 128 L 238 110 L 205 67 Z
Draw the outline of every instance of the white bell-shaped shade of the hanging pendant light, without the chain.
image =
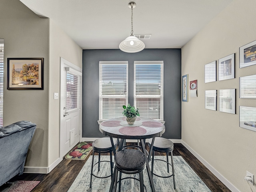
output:
M 128 36 L 119 44 L 119 49 L 127 53 L 136 53 L 145 48 L 145 44 L 135 36 Z

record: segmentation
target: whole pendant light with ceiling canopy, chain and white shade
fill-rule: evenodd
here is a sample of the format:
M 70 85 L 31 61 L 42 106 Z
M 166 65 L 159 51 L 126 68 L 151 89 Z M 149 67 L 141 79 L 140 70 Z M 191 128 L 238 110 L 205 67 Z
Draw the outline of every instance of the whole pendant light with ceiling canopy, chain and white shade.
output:
M 133 10 L 133 8 L 135 8 L 135 6 L 136 6 L 135 2 L 130 2 L 128 4 L 128 7 L 131 8 L 132 10 Z M 132 14 L 133 14 L 133 12 L 132 12 Z M 133 19 L 133 17 L 132 17 L 132 19 Z M 119 49 L 122 50 L 123 52 L 127 52 L 127 53 L 136 53 L 136 52 L 143 50 L 144 48 L 145 48 L 145 44 L 133 35 L 133 25 L 132 25 L 131 35 L 128 36 L 125 40 L 123 40 L 119 44 Z

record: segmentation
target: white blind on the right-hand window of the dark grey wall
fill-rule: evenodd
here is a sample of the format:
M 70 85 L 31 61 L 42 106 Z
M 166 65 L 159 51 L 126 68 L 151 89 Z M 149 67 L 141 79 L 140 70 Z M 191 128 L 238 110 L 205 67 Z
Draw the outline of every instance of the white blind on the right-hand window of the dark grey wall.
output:
M 134 106 L 141 117 L 164 120 L 163 80 L 163 61 L 134 61 Z

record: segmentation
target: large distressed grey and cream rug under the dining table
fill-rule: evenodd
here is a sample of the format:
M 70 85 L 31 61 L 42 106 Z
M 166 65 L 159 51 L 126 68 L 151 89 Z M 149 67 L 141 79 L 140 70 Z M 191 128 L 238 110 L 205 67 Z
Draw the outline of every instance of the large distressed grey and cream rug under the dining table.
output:
M 109 156 L 101 156 L 101 160 L 109 160 Z M 155 156 L 155 159 L 166 160 L 166 156 Z M 171 159 L 171 158 L 169 158 Z M 95 162 L 97 158 L 94 158 Z M 92 177 L 92 188 L 90 188 L 90 166 L 92 163 L 92 156 L 88 158 L 84 167 L 70 186 L 68 192 L 108 192 L 111 184 L 111 179 L 100 179 Z M 103 164 L 105 163 L 105 164 Z M 150 163 L 151 166 L 151 163 Z M 110 173 L 109 162 L 102 162 L 101 170 L 94 167 L 94 174 L 98 176 L 107 176 Z M 162 161 L 154 162 L 154 173 L 162 176 L 167 176 L 166 163 Z M 170 173 L 172 174 L 172 168 L 170 167 Z M 160 178 L 153 176 L 154 186 L 156 192 L 211 192 L 211 190 L 204 184 L 204 182 L 198 177 L 198 175 L 192 170 L 187 162 L 181 156 L 174 156 L 174 173 L 176 181 L 176 190 L 174 190 L 173 179 Z M 144 184 L 147 192 L 151 192 L 150 183 L 146 169 L 143 172 Z M 122 174 L 122 178 L 126 176 L 132 176 L 138 178 L 138 174 L 126 175 Z M 140 183 L 133 179 L 122 180 L 121 191 L 125 192 L 139 192 Z

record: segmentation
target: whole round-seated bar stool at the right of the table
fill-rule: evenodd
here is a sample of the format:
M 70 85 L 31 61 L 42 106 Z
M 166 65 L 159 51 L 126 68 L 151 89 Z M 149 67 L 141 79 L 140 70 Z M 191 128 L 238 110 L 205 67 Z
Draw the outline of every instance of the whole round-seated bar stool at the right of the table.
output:
M 151 146 L 151 143 L 152 143 L 152 139 L 149 140 L 148 145 Z M 153 151 L 152 151 L 151 173 L 152 173 L 152 176 L 155 175 L 155 176 L 162 177 L 162 178 L 169 178 L 169 177 L 173 176 L 173 185 L 174 185 L 174 189 L 176 189 L 175 176 L 174 176 L 173 155 L 172 155 L 173 149 L 174 149 L 174 144 L 170 140 L 168 140 L 166 138 L 162 138 L 162 137 L 156 137 L 155 138 L 154 145 L 153 145 Z M 166 153 L 166 161 L 162 160 L 162 159 L 154 159 L 154 152 L 155 151 L 160 152 L 160 153 Z M 172 164 L 169 163 L 168 153 L 171 153 Z M 169 173 L 169 165 L 172 166 L 172 175 L 159 176 L 157 174 L 154 174 L 154 161 L 156 161 L 156 160 L 163 161 L 163 162 L 167 163 L 167 172 L 168 173 Z

